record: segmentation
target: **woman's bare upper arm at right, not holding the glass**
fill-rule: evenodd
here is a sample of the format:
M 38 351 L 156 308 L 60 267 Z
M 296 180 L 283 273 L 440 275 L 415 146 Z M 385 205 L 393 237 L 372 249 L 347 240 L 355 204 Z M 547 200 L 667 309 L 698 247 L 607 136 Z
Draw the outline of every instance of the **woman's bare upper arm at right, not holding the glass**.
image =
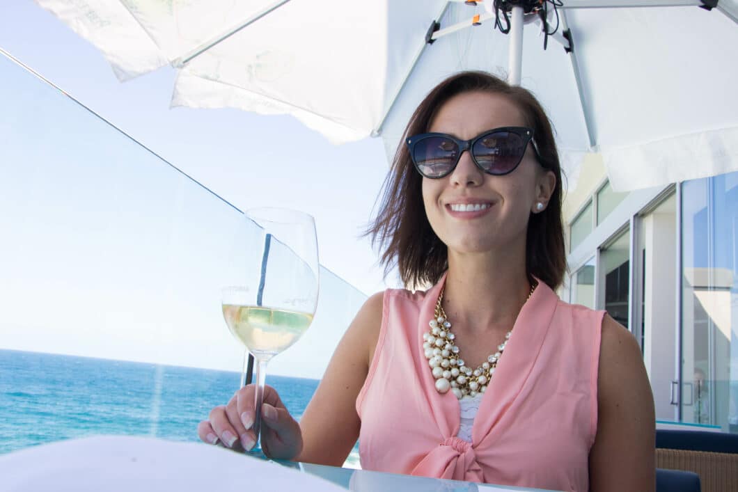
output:
M 655 490 L 655 412 L 641 349 L 605 315 L 597 379 L 597 435 L 590 491 Z

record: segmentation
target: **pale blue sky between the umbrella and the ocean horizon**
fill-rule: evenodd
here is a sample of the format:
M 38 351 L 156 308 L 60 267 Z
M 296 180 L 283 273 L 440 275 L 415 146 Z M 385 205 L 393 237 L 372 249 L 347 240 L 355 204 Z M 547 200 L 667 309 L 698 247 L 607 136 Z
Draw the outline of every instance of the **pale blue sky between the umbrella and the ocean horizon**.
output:
M 0 4 L 0 47 L 235 207 L 311 213 L 321 263 L 384 288 L 358 238 L 387 172 L 380 139 L 334 146 L 292 117 L 170 110 L 172 69 L 119 83 L 30 1 Z M 238 214 L 4 59 L 0 89 L 0 348 L 238 369 L 218 299 Z M 274 372 L 320 377 L 362 297 L 324 277 L 323 316 Z

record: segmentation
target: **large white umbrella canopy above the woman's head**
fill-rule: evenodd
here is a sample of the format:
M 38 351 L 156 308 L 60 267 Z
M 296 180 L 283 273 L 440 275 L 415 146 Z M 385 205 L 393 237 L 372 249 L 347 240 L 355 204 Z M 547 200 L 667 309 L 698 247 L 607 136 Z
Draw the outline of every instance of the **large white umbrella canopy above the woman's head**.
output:
M 332 142 L 382 135 L 389 156 L 436 83 L 520 63 L 494 4 L 524 3 L 36 1 L 121 80 L 178 68 L 173 105 L 288 113 Z M 547 49 L 540 16 L 526 16 L 520 84 L 548 111 L 570 178 L 591 152 L 615 190 L 738 170 L 738 0 L 548 7 Z

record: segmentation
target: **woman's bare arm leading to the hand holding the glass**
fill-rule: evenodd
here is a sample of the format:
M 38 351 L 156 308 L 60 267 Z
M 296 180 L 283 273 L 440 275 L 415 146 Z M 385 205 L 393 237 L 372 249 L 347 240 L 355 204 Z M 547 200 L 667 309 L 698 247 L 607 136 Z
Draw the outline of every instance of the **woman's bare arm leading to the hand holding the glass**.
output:
M 382 324 L 382 293 L 367 299 L 338 344 L 300 420 L 297 461 L 340 466 L 359 437 L 356 397 L 364 385 Z

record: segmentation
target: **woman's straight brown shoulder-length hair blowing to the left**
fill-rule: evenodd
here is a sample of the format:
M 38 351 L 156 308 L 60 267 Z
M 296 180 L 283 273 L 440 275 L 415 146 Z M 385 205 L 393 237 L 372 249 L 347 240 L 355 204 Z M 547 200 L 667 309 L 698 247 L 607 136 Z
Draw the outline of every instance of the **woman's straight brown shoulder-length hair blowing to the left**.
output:
M 561 165 L 551 122 L 533 94 L 487 72 L 452 75 L 435 86 L 415 110 L 384 182 L 379 213 L 366 235 L 374 246 L 384 249 L 381 262 L 385 274 L 397 266 L 403 283 L 413 288 L 435 284 L 441 279 L 449 265 L 448 252 L 425 215 L 423 178 L 413 166 L 405 141 L 410 136 L 426 133 L 446 101 L 457 94 L 475 91 L 502 94 L 520 108 L 525 124 L 533 128 L 539 164 L 556 175 L 556 188 L 548 207 L 537 214 L 531 213 L 528 219 L 525 244 L 528 277 L 535 276 L 556 289 L 562 283 L 567 266 L 561 218 Z

